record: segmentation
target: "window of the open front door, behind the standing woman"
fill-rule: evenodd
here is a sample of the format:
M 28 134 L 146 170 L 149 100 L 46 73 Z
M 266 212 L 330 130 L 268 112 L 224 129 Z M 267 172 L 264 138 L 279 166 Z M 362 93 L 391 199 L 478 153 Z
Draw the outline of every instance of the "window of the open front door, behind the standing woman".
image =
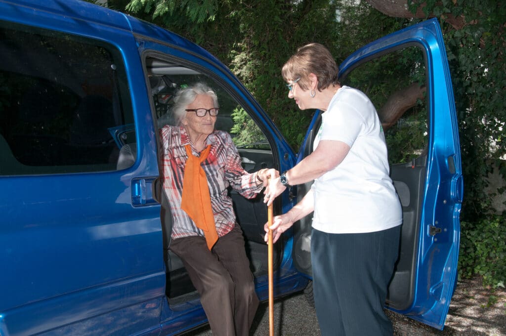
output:
M 344 81 L 376 107 L 390 164 L 409 163 L 427 152 L 426 80 L 423 52 L 408 47 L 361 64 Z

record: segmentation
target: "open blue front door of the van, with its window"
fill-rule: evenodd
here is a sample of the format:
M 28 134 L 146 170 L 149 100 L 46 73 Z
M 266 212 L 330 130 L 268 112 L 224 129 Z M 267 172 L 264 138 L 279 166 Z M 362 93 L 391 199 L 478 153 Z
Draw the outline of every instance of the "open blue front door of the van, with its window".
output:
M 448 61 L 436 19 L 370 43 L 340 66 L 385 130 L 391 177 L 403 209 L 399 259 L 387 308 L 442 329 L 456 283 L 462 176 Z M 317 111 L 299 160 L 312 152 Z M 310 187 L 299 186 L 302 198 Z M 294 226 L 293 261 L 311 276 L 311 218 Z

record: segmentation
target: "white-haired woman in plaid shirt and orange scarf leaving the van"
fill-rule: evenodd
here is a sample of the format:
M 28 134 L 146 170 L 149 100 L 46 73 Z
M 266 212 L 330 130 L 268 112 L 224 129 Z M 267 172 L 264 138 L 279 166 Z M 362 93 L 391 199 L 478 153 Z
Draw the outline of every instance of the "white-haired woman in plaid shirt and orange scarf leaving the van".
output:
M 275 171 L 244 171 L 230 134 L 215 131 L 218 99 L 203 83 L 180 90 L 174 102 L 179 124 L 160 131 L 170 249 L 200 293 L 213 334 L 247 335 L 259 301 L 227 188 L 255 197 Z

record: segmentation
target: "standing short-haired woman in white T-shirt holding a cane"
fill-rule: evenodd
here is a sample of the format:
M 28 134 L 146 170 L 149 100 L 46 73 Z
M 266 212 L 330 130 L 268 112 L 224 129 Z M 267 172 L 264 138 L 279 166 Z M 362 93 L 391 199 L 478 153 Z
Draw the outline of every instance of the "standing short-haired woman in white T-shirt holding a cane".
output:
M 311 262 L 322 335 L 392 335 L 383 306 L 402 209 L 376 110 L 364 93 L 340 85 L 338 66 L 320 44 L 301 47 L 282 75 L 300 109 L 325 112 L 313 153 L 272 179 L 265 192 L 270 204 L 286 187 L 314 180 L 297 205 L 274 218 L 274 241 L 314 211 Z

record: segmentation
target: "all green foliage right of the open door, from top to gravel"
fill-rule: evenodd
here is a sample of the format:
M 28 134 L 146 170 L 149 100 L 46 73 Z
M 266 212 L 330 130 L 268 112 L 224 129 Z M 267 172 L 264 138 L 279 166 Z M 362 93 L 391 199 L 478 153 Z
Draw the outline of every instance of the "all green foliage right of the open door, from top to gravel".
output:
M 412 5 L 413 12 L 417 5 Z M 427 2 L 424 11 L 440 18 L 453 83 L 464 178 L 459 275 L 483 276 L 485 284 L 504 286 L 506 222 L 493 215 L 490 162 L 506 177 L 506 7 L 497 0 Z M 465 19 L 455 27 L 451 19 Z M 458 22 L 458 21 L 457 21 Z M 502 158 L 502 160 L 501 160 Z

